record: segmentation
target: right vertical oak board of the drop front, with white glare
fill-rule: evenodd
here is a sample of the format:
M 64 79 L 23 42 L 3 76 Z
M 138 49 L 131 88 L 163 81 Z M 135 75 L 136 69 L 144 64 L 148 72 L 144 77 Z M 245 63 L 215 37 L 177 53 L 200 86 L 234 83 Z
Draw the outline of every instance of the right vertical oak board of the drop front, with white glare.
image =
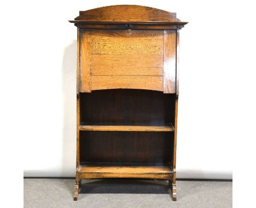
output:
M 176 93 L 176 31 L 164 35 L 164 93 Z

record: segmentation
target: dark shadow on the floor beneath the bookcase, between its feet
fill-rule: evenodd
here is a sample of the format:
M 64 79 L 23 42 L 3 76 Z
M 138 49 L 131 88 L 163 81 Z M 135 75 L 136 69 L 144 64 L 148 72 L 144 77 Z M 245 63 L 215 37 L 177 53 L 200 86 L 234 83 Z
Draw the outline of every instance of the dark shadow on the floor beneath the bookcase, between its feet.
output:
M 79 193 L 170 194 L 170 187 L 167 181 L 156 180 L 82 180 Z

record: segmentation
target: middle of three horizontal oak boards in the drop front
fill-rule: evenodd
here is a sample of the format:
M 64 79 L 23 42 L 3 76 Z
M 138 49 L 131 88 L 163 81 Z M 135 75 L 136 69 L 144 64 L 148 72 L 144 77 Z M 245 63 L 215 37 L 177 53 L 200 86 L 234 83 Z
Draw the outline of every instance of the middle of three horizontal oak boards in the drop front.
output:
M 162 76 L 162 54 L 92 54 L 91 75 L 153 75 Z

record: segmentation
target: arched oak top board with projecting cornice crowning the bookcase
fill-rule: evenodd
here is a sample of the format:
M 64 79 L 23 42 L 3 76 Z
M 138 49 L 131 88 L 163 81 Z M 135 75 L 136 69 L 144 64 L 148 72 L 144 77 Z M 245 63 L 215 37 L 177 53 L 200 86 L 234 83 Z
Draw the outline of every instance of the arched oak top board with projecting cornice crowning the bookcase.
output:
M 147 23 L 185 25 L 176 13 L 140 5 L 112 5 L 80 11 L 72 23 Z

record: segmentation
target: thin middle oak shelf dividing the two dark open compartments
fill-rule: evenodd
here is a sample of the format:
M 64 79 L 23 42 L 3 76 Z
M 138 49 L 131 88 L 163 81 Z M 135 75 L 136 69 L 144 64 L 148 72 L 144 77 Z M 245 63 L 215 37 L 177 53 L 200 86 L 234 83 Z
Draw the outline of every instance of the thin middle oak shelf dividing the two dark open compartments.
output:
M 117 124 L 117 123 L 82 123 L 82 131 L 174 131 L 173 125 L 154 124 Z

